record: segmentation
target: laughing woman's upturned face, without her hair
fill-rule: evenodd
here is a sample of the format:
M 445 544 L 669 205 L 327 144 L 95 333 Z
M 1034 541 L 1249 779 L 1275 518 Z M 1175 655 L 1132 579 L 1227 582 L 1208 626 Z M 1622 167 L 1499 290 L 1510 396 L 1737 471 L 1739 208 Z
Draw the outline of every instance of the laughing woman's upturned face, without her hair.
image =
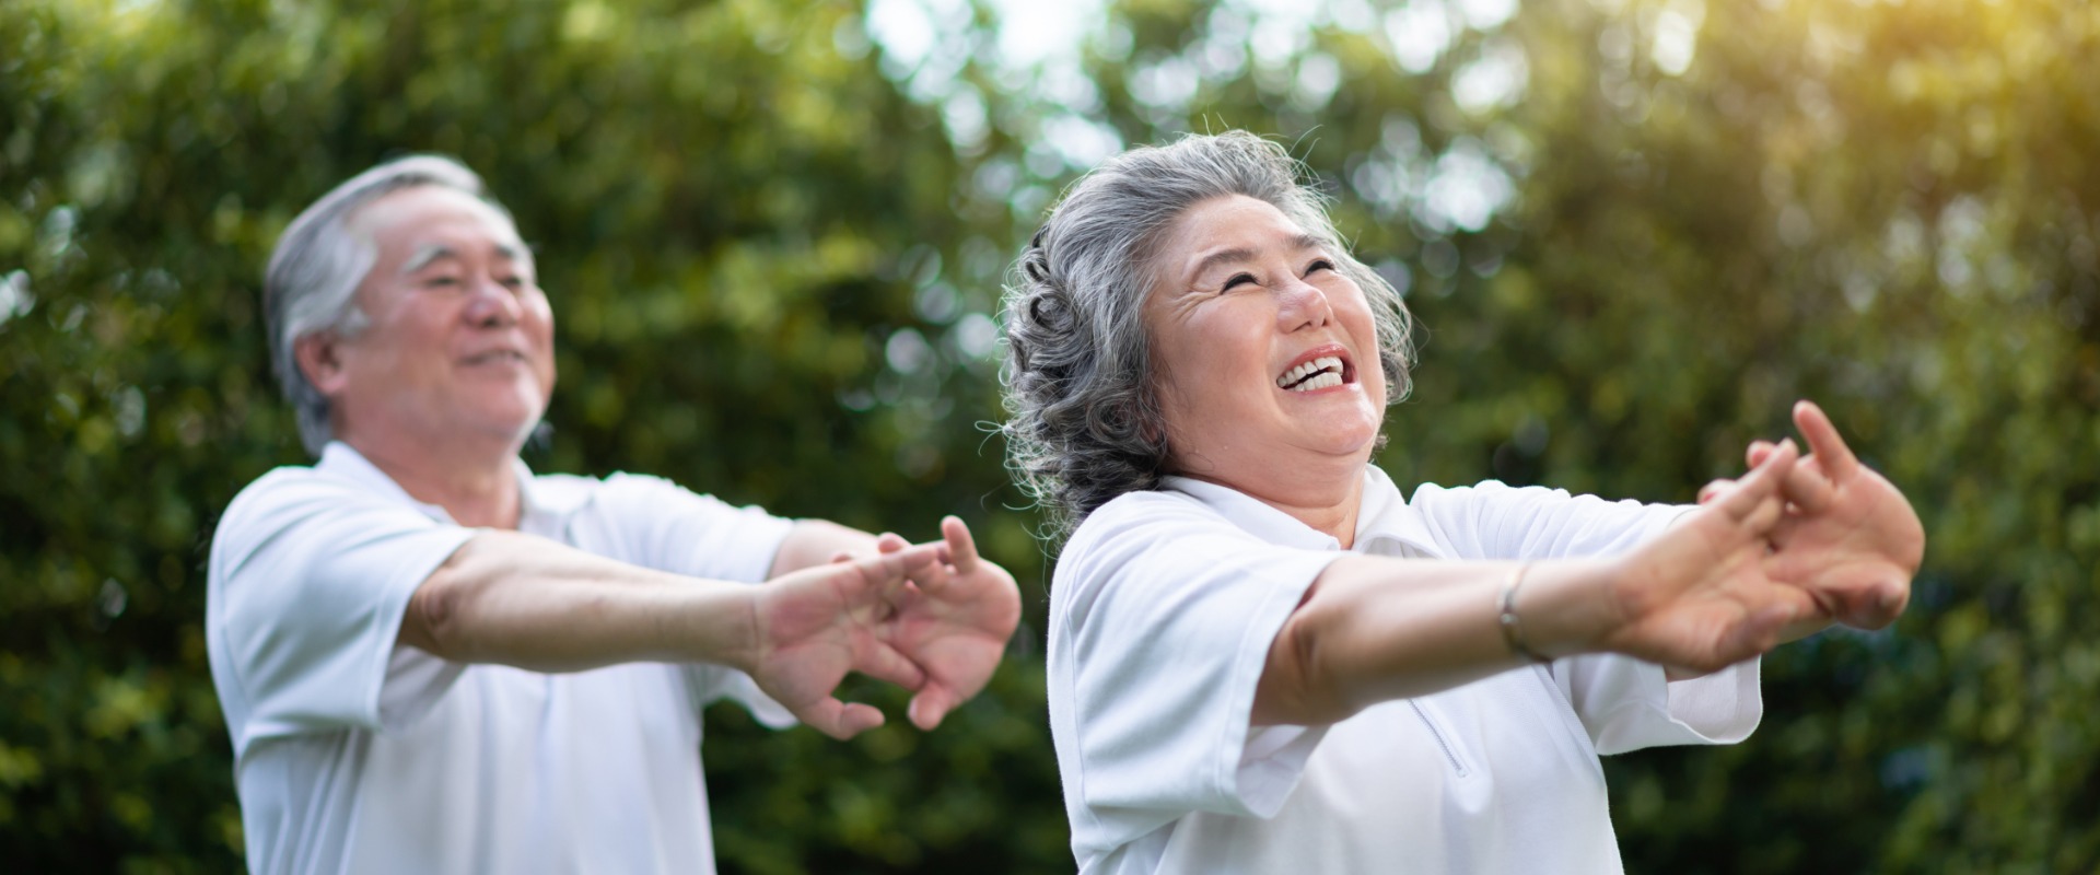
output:
M 1144 302 L 1174 474 L 1256 497 L 1363 466 L 1386 413 L 1371 306 L 1338 252 L 1268 201 L 1189 208 Z

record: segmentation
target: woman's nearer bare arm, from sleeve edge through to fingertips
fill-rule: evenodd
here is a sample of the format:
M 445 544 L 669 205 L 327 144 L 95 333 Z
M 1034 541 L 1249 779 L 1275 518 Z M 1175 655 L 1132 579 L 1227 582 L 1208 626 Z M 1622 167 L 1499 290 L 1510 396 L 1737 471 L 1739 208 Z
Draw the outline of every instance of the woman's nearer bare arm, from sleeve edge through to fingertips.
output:
M 1781 443 L 1722 495 L 1617 558 L 1342 556 L 1273 640 L 1252 720 L 1327 724 L 1522 665 L 1502 629 L 1512 581 L 1522 644 L 1544 657 L 1623 653 L 1693 674 L 1756 657 L 1819 613 L 1806 590 L 1766 573 L 1798 455 Z

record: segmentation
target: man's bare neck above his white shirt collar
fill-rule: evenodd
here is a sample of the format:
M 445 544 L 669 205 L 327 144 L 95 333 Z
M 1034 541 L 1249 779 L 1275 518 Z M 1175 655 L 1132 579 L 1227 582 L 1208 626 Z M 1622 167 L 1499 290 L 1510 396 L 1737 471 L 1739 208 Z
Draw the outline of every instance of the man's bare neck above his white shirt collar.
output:
M 514 445 L 386 441 L 372 434 L 344 434 L 342 443 L 357 449 L 410 497 L 445 508 L 452 520 L 462 527 L 519 527 L 523 497 L 514 468 L 519 447 Z

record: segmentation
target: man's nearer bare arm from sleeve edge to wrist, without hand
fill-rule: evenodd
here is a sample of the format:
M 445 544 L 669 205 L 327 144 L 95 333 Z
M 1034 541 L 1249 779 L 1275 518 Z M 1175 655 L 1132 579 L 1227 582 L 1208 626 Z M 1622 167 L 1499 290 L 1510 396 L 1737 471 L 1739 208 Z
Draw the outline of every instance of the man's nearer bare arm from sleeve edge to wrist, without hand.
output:
M 410 598 L 401 642 L 462 663 L 582 671 L 632 661 L 746 667 L 758 588 L 485 531 Z

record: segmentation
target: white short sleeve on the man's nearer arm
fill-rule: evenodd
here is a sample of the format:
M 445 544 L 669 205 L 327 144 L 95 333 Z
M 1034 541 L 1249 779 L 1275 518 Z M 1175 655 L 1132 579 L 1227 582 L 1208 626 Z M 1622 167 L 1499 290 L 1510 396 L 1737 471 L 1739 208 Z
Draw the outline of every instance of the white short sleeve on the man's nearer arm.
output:
M 235 753 L 271 737 L 380 730 L 382 688 L 405 705 L 449 686 L 456 665 L 393 657 L 410 596 L 470 537 L 313 472 L 248 487 L 212 539 L 206 623 Z

